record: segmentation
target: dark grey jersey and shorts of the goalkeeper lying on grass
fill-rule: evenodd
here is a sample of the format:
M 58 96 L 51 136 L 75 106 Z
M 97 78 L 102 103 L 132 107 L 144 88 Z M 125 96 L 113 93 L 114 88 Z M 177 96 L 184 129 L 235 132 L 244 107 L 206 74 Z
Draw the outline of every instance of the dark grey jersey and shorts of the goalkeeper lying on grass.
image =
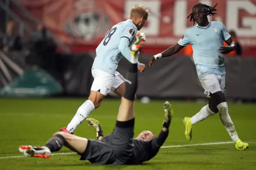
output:
M 133 128 L 115 127 L 112 134 L 102 140 L 89 139 L 80 160 L 87 159 L 99 165 L 142 164 L 158 153 L 169 134 L 169 131 L 161 131 L 157 138 L 142 141 L 133 138 Z

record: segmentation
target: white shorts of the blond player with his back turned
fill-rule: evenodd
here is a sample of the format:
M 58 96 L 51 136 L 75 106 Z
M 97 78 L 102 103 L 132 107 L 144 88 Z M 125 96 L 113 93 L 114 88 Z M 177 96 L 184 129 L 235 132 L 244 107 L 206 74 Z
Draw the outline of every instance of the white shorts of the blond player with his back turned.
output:
M 126 81 L 126 79 L 124 79 L 124 77 L 117 71 L 115 72 L 115 75 L 112 75 L 102 70 L 92 69 L 91 74 L 94 78 L 91 90 L 99 91 L 104 96 L 110 91 L 115 91 L 117 87 Z

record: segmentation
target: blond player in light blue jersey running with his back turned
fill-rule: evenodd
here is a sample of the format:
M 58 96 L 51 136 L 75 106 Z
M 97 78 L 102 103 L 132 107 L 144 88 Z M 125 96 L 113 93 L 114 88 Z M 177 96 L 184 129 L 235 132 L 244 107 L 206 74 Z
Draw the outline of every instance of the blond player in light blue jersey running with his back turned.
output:
M 67 127 L 61 128 L 61 132 L 73 134 L 78 125 L 80 125 L 95 108 L 100 106 L 102 99 L 110 91 L 115 92 L 119 96 L 124 95 L 126 79 L 116 71 L 122 56 L 126 57 L 132 64 L 137 64 L 140 72 L 145 70 L 145 64 L 140 64 L 138 61 L 135 61 L 137 57 L 132 57 L 132 55 L 139 55 L 139 49 L 142 45 L 140 40 L 143 40 L 143 36 L 139 36 L 139 39 L 136 41 L 139 45 L 134 45 L 135 47 L 132 47 L 132 51 L 130 46 L 135 43 L 137 30 L 141 30 L 145 21 L 148 19 L 148 15 L 149 11 L 145 6 L 136 5 L 131 9 L 130 19 L 117 23 L 108 30 L 104 39 L 96 49 L 96 57 L 91 70 L 94 81 L 91 86 L 90 96 L 88 100 L 78 108 L 76 115 Z

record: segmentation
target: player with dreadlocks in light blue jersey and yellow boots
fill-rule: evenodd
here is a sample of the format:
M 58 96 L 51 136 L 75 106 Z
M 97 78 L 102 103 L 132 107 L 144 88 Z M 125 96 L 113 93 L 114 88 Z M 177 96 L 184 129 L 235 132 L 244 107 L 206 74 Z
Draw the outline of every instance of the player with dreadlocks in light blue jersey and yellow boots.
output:
M 185 117 L 183 119 L 187 140 L 191 140 L 192 138 L 192 130 L 195 123 L 215 113 L 219 113 L 221 122 L 234 141 L 236 149 L 245 150 L 249 147 L 249 144 L 239 139 L 234 124 L 228 114 L 228 104 L 224 96 L 226 72 L 223 54 L 233 51 L 235 49 L 235 43 L 222 22 L 209 22 L 207 18 L 207 15 L 216 14 L 214 13 L 214 11 L 217 11 L 215 9 L 216 5 L 211 7 L 201 3 L 195 4 L 189 17 L 190 21 L 193 21 L 194 24 L 196 22 L 197 25 L 187 29 L 176 45 L 162 53 L 154 55 L 150 59 L 149 65 L 152 66 L 155 60 L 174 55 L 183 47 L 191 44 L 197 75 L 202 87 L 205 89 L 204 94 L 208 96 L 209 102 L 193 117 Z M 223 46 L 223 41 L 228 46 Z

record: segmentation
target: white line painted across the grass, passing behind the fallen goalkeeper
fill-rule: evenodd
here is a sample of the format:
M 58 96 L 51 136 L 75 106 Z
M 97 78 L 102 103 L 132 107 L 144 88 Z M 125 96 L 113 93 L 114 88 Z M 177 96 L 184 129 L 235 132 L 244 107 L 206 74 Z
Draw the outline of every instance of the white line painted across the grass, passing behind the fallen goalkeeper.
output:
M 193 147 L 193 146 L 230 144 L 230 143 L 234 143 L 234 142 L 212 142 L 212 143 L 183 144 L 183 145 L 163 146 L 161 148 Z M 75 152 L 62 152 L 62 153 L 53 153 L 52 155 L 71 155 L 71 154 L 76 154 L 76 153 Z M 25 157 L 25 156 L 7 156 L 7 157 L 0 157 L 0 159 L 11 159 L 11 158 L 20 158 L 20 157 Z

